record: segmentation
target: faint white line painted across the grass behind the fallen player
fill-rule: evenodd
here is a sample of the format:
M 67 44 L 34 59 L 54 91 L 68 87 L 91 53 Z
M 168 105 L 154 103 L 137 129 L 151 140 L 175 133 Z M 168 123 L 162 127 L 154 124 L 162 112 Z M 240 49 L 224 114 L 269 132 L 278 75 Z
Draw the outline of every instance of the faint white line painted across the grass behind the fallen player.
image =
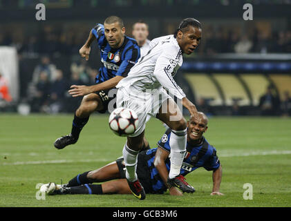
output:
M 256 155 L 284 155 L 291 154 L 291 151 L 252 151 L 247 153 L 218 153 L 218 157 L 248 157 Z M 9 155 L 9 154 L 7 154 Z M 95 160 L 39 160 L 39 161 L 24 161 L 24 162 L 4 162 L 1 165 L 32 165 L 32 164 L 67 164 L 67 163 L 86 163 L 86 162 L 110 162 L 112 159 L 95 159 Z

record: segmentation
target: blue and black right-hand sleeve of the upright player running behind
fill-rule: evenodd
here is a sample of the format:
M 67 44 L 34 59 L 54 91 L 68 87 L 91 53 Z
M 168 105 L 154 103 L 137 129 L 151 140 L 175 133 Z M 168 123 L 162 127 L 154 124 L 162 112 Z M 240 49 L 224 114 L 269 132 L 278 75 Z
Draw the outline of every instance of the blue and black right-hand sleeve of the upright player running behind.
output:
M 116 76 L 127 77 L 127 75 L 129 74 L 129 70 L 131 70 L 135 63 L 138 62 L 139 58 L 140 48 L 137 45 L 131 46 L 129 50 L 126 50 L 126 52 L 124 53 L 124 59 L 120 64 L 120 67 L 118 68 Z

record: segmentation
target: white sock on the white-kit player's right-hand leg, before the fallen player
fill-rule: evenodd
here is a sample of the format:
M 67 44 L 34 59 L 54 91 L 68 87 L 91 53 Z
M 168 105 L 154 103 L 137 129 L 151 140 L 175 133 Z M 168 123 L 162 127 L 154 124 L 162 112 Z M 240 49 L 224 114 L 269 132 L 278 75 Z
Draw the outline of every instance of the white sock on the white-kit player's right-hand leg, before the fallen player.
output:
M 169 172 L 169 178 L 173 179 L 173 177 L 176 177 L 180 174 L 182 162 L 185 157 L 187 144 L 187 128 L 182 131 L 172 130 L 169 144 L 171 146 L 171 168 Z

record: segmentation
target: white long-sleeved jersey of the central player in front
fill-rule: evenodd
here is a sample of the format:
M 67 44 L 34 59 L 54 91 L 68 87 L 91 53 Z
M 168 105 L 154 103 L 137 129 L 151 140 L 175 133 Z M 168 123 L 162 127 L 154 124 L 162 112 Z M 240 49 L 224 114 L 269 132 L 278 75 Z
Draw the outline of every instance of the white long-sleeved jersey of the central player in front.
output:
M 138 59 L 116 88 L 125 88 L 134 97 L 141 97 L 139 94 L 154 93 L 163 87 L 182 99 L 186 95 L 173 79 L 182 61 L 182 50 L 173 35 L 153 39 L 147 54 Z

